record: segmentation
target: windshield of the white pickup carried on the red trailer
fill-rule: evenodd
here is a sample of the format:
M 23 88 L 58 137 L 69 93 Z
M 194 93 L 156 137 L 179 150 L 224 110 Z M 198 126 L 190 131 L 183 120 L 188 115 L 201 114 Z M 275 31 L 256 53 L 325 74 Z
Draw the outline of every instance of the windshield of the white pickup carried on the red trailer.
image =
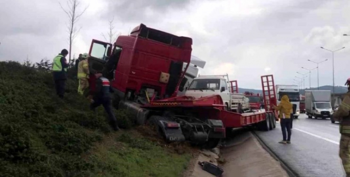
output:
M 193 80 L 188 90 L 219 90 L 220 79 Z

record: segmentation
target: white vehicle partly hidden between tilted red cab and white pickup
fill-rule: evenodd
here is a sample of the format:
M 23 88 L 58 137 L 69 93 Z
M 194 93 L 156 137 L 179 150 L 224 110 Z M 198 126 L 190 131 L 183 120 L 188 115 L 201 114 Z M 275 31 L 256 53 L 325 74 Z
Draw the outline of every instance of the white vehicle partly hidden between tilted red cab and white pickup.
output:
M 205 63 L 206 63 L 205 61 L 199 59 L 198 57 L 193 56 L 193 55 L 191 56 L 191 62 L 190 62 L 189 68 L 185 72 L 185 78 L 187 79 L 187 81 L 184 84 L 184 87 L 190 86 L 193 79 L 198 76 L 198 72 L 199 72 L 198 67 L 204 68 Z M 187 63 L 183 63 L 182 72 L 185 71 L 186 65 L 187 65 Z M 183 80 L 183 82 L 184 82 L 184 80 Z M 177 93 L 177 96 L 183 96 L 183 95 L 185 95 L 185 90 L 179 91 Z

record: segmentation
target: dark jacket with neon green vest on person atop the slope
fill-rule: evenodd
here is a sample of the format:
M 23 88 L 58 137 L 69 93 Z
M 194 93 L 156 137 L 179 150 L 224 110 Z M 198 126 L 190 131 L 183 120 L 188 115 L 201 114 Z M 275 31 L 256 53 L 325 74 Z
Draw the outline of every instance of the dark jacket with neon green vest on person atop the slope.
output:
M 67 60 L 62 54 L 58 54 L 52 62 L 52 71 L 55 80 L 66 80 Z

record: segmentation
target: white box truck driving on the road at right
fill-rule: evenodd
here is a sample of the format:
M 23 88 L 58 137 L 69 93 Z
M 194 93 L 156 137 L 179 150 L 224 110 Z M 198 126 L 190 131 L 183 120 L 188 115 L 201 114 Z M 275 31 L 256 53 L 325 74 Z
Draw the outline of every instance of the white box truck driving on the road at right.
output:
M 331 118 L 333 109 L 331 106 L 330 90 L 306 90 L 305 108 L 309 118 Z

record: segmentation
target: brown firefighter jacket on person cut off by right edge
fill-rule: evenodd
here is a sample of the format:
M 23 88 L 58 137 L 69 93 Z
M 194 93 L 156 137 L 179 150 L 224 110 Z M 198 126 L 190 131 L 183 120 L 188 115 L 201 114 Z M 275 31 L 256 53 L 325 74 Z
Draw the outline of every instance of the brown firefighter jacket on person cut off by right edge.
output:
M 341 134 L 350 135 L 350 91 L 348 91 L 338 110 L 333 114 L 340 122 L 339 131 Z

